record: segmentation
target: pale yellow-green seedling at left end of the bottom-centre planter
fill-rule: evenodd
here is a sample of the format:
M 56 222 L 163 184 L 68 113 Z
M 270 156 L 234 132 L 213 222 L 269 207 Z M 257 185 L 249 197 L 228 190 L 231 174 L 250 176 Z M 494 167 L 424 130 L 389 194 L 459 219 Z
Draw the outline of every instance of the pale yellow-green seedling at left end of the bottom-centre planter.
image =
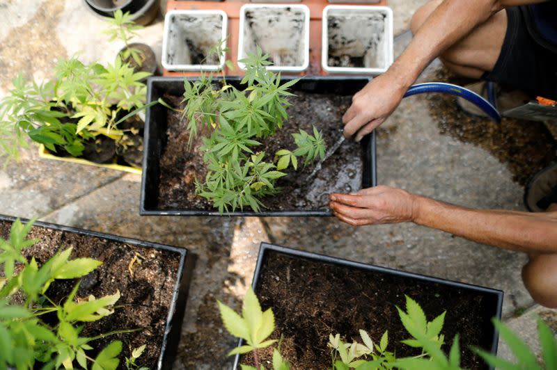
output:
M 256 359 L 256 367 L 242 365 L 242 369 L 265 369 L 258 364 L 257 350 L 258 348 L 271 346 L 276 342 L 276 339 L 267 339 L 274 330 L 274 314 L 272 309 L 269 308 L 265 312 L 262 311 L 256 293 L 253 292 L 251 287 L 246 291 L 241 316 L 227 305 L 221 303 L 221 301 L 217 301 L 217 303 L 226 330 L 231 335 L 246 341 L 244 346 L 234 348 L 228 355 L 253 352 L 253 358 Z M 290 364 L 283 360 L 281 353 L 276 348 L 273 351 L 273 369 L 290 369 Z

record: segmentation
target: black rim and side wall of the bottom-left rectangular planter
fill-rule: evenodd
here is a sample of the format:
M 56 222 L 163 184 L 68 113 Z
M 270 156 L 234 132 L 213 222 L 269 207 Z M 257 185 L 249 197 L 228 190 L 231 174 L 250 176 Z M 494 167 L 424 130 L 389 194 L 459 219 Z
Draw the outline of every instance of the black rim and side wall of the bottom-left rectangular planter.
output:
M 0 214 L 0 221 L 15 221 L 13 216 L 4 216 Z M 22 219 L 22 223 L 29 220 Z M 161 353 L 157 360 L 157 369 L 171 369 L 174 362 L 178 343 L 182 331 L 182 320 L 184 318 L 186 300 L 189 290 L 189 283 L 194 269 L 195 256 L 185 248 L 176 248 L 166 246 L 164 244 L 152 243 L 150 241 L 141 241 L 138 239 L 125 238 L 123 236 L 116 236 L 111 234 L 104 234 L 101 232 L 93 232 L 89 230 L 78 229 L 76 227 L 69 227 L 63 225 L 56 225 L 53 223 L 44 223 L 36 221 L 33 227 L 44 227 L 52 230 L 59 230 L 81 236 L 91 236 L 94 238 L 107 239 L 116 243 L 130 244 L 143 248 L 154 248 L 156 250 L 165 250 L 180 255 L 180 262 L 178 264 L 178 271 L 176 271 L 176 281 L 173 287 L 173 294 L 171 303 L 168 306 L 168 316 L 166 318 L 166 325 L 164 328 L 164 335 L 161 345 Z M 140 360 L 141 361 L 141 358 Z M 120 362 L 120 366 L 123 362 Z

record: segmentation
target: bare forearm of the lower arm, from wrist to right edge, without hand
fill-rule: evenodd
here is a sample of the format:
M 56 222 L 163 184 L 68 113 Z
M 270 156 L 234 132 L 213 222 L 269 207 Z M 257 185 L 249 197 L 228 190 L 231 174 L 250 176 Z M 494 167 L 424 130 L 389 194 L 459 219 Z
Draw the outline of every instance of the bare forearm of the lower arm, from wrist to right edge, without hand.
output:
M 478 243 L 530 253 L 557 252 L 557 212 L 478 210 L 416 195 L 414 223 Z

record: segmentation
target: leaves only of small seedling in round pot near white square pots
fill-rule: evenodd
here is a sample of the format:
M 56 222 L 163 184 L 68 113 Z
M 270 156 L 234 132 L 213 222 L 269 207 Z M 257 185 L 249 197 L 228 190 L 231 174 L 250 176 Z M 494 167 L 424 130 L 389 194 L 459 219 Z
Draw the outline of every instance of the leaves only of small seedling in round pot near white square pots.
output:
M 136 65 L 143 65 L 144 57 L 141 56 L 141 51 L 130 47 L 130 40 L 136 37 L 137 32 L 144 27 L 135 24 L 132 20 L 132 15 L 130 12 L 122 13 L 122 10 L 118 9 L 114 12 L 112 18 L 108 18 L 109 28 L 102 31 L 109 35 L 109 41 L 120 40 L 124 43 L 125 49 L 122 51 L 121 58 L 123 61 L 129 61 L 130 58 L 136 63 Z

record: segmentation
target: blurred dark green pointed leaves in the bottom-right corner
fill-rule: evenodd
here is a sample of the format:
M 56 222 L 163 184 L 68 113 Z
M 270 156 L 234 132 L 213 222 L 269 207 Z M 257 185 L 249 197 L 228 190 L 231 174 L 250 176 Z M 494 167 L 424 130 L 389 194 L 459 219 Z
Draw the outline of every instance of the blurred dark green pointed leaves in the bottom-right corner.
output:
M 538 364 L 535 353 L 522 341 L 515 333 L 513 333 L 506 325 L 497 319 L 492 320 L 493 325 L 501 338 L 509 346 L 512 354 L 515 355 L 516 362 L 510 362 L 496 357 L 481 348 L 473 348 L 487 364 L 497 369 L 503 370 L 542 370 L 557 369 L 557 341 L 551 328 L 544 323 L 542 319 L 538 319 L 538 336 L 540 337 L 540 345 L 542 347 L 542 364 Z

